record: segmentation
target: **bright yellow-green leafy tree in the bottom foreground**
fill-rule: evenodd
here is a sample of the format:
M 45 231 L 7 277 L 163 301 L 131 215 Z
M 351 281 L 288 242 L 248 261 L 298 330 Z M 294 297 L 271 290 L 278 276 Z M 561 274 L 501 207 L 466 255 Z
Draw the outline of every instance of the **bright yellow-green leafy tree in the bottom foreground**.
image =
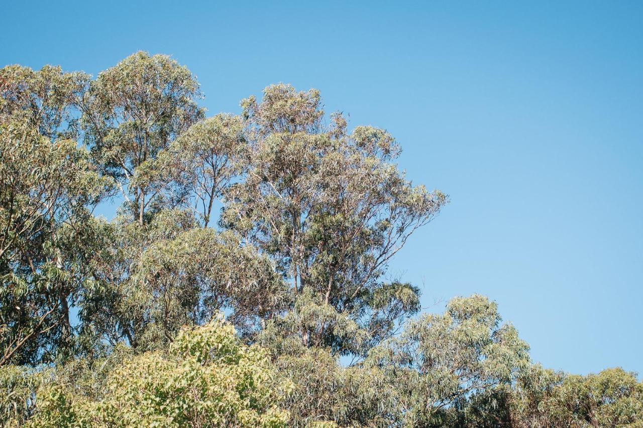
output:
M 37 394 L 32 427 L 285 427 L 266 353 L 241 344 L 222 317 L 185 328 L 168 352 L 123 359 L 97 399 L 53 382 Z

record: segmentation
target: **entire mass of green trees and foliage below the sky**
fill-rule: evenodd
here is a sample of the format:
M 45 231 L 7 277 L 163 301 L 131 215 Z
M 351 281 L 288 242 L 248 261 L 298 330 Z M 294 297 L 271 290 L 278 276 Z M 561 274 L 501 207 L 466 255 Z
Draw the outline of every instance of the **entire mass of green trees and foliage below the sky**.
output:
M 387 267 L 448 197 L 386 130 L 200 99 L 163 55 L 0 69 L 0 425 L 643 427 L 635 373 L 532 364 L 484 296 L 419 314 Z

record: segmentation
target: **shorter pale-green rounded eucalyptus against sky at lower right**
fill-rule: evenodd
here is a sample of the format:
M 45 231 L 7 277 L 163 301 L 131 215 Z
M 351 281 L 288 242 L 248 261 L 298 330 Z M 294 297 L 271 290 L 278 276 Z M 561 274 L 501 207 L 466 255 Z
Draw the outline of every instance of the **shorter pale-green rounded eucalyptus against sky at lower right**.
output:
M 470 397 L 511 386 L 529 367 L 529 346 L 496 303 L 484 296 L 454 298 L 444 314 L 425 314 L 399 337 L 372 349 L 365 367 L 377 367 L 401 393 L 409 426 L 449 425 L 449 413 Z

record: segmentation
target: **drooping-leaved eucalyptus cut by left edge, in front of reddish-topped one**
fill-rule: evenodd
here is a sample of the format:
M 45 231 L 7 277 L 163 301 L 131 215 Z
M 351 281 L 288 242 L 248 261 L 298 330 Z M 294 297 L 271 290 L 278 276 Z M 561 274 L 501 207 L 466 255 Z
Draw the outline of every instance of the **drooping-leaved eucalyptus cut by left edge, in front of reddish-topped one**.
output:
M 73 140 L 0 124 L 0 364 L 52 359 L 100 240 L 88 206 L 109 188 Z

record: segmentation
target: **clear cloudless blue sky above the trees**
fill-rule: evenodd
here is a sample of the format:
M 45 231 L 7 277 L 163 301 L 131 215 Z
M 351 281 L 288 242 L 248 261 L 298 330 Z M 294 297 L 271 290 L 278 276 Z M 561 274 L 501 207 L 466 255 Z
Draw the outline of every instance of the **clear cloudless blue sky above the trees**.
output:
M 642 1 L 1 3 L 0 66 L 166 53 L 209 114 L 320 89 L 451 196 L 392 265 L 427 310 L 485 294 L 545 366 L 643 372 Z

